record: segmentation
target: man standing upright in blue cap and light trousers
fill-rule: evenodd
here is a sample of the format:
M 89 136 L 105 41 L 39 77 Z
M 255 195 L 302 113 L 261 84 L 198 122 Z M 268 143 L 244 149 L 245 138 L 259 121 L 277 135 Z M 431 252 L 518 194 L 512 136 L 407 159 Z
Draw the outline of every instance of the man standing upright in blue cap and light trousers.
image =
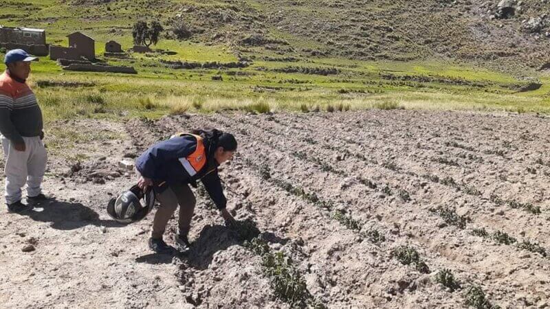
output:
M 0 75 L 0 133 L 5 158 L 5 203 L 8 210 L 21 212 L 31 205 L 21 203 L 21 187 L 27 183 L 27 202 L 47 200 L 41 184 L 47 155 L 42 111 L 34 93 L 26 84 L 30 62 L 38 60 L 23 49 L 5 54 L 7 67 Z

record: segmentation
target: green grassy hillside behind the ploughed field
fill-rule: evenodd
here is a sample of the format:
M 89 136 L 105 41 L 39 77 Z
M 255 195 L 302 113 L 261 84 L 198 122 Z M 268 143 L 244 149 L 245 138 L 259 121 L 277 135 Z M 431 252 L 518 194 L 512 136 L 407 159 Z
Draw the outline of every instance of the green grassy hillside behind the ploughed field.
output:
M 81 31 L 96 39 L 98 60 L 137 69 L 62 71 L 43 57 L 33 78 L 51 119 L 220 108 L 545 112 L 549 78 L 536 68 L 549 60 L 550 23 L 533 33 L 525 20 L 548 8 L 522 3 L 510 19 L 495 19 L 496 3 L 471 1 L 4 0 L 0 24 L 44 28 L 55 45 Z M 107 41 L 133 45 L 138 20 L 166 29 L 157 51 L 105 58 Z M 219 64 L 173 69 L 167 61 Z M 228 65 L 239 61 L 247 65 Z M 518 92 L 532 83 L 542 87 Z

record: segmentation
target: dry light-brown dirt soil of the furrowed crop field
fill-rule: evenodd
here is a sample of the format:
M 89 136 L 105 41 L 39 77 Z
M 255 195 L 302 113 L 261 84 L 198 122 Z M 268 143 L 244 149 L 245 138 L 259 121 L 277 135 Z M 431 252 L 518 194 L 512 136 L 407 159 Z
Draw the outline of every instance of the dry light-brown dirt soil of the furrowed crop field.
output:
M 67 152 L 87 157 L 80 164 L 50 156 L 44 187 L 56 201 L 25 214 L 2 204 L 2 308 L 289 308 L 201 185 L 186 254 L 148 250 L 153 214 L 127 226 L 107 216 L 109 198 L 136 180 L 118 161 L 205 127 L 239 140 L 221 167 L 228 207 L 256 222 L 272 252 L 292 258 L 327 307 L 463 308 L 471 286 L 502 308 L 550 304 L 550 124 L 542 116 L 214 113 L 49 130 L 56 126 L 118 138 L 72 146 Z M 427 267 L 403 264 L 401 246 Z M 437 283 L 445 268 L 457 290 Z

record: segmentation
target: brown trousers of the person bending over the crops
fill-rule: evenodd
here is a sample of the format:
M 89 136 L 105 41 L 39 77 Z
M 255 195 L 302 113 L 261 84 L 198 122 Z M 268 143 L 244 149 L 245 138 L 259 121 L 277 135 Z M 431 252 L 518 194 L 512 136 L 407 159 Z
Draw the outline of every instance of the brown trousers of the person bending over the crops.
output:
M 161 194 L 157 194 L 157 201 L 160 203 L 159 209 L 153 219 L 153 230 L 151 238 L 162 239 L 166 230 L 168 220 L 172 218 L 179 205 L 179 219 L 177 222 L 179 234 L 187 235 L 191 226 L 191 218 L 195 211 L 195 194 L 191 191 L 189 185 L 170 185 L 168 189 Z

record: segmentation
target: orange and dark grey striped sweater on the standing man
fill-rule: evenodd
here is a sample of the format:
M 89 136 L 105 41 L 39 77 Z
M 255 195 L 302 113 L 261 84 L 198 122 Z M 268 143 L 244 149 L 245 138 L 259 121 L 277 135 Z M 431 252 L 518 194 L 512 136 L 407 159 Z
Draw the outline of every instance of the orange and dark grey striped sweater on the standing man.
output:
M 25 82 L 0 75 L 0 133 L 14 144 L 22 144 L 22 137 L 42 136 L 42 111 L 36 96 Z

